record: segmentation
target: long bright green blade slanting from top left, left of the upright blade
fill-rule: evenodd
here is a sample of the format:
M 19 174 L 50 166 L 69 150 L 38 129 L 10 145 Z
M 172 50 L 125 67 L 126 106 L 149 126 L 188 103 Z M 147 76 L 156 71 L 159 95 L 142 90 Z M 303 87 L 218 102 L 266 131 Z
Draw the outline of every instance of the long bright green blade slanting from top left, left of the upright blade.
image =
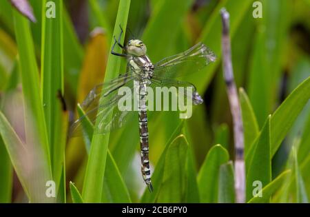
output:
M 28 20 L 19 12 L 13 12 L 14 28 L 19 50 L 19 69 L 21 70 L 21 83 L 23 85 L 23 98 L 25 105 L 25 134 L 27 143 L 34 143 L 37 149 L 43 151 L 43 164 L 50 169 L 50 151 L 48 135 L 45 125 L 42 101 L 39 88 L 39 72 L 34 56 L 34 45 Z M 32 138 L 33 136 L 38 138 Z

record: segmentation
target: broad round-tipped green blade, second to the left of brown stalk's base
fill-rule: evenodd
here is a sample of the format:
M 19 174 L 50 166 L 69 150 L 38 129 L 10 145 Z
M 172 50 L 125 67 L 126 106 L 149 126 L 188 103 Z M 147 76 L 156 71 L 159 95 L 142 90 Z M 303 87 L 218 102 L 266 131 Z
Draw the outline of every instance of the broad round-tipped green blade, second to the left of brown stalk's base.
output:
M 197 177 L 201 203 L 218 202 L 220 165 L 227 163 L 228 160 L 229 154 L 221 145 L 214 145 L 209 150 Z

